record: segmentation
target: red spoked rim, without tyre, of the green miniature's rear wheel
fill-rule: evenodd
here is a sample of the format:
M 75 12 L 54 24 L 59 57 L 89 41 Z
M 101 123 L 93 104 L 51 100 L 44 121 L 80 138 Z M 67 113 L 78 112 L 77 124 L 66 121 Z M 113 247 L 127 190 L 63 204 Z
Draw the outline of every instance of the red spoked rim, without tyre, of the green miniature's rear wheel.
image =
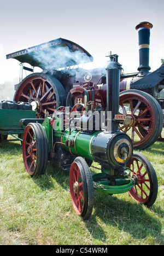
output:
M 25 129 L 22 143 L 22 153 L 26 171 L 33 174 L 36 168 L 37 147 L 36 138 L 31 126 L 27 126 Z

